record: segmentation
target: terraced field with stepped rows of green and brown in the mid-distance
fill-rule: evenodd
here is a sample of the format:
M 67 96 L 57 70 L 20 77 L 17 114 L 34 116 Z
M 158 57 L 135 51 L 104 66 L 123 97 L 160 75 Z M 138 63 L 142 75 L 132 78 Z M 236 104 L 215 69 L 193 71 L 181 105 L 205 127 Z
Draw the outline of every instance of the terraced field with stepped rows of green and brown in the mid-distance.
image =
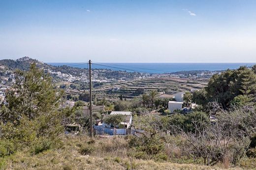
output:
M 119 98 L 122 94 L 124 98 L 139 96 L 143 91 L 158 90 L 168 94 L 178 91 L 190 91 L 200 89 L 207 85 L 208 79 L 180 79 L 175 77 L 150 77 L 136 79 L 128 82 L 116 82 L 94 88 L 97 96 L 106 95 L 108 98 Z

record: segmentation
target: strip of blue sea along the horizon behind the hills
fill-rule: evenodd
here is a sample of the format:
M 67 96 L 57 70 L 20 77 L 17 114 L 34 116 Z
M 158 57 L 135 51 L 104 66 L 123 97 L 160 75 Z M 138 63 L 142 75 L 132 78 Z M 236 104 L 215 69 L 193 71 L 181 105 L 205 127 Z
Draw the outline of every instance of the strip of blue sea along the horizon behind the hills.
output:
M 89 64 L 75 63 L 75 62 L 51 62 L 48 63 L 54 66 L 71 66 L 78 68 L 89 68 Z M 127 72 L 141 72 L 141 73 L 173 73 L 177 71 L 193 71 L 193 70 L 207 70 L 220 71 L 226 69 L 236 69 L 240 66 L 251 67 L 256 63 L 94 63 L 92 62 L 92 69 L 111 69 L 122 70 Z

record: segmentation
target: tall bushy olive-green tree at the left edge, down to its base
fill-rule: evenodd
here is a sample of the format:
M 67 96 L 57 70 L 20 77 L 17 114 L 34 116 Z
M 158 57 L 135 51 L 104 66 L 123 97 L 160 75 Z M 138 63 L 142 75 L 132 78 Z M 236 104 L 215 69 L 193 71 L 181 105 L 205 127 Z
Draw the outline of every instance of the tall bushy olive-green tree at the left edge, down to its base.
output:
M 35 64 L 28 72 L 15 71 L 15 80 L 6 95 L 7 105 L 0 111 L 0 145 L 8 143 L 4 155 L 33 143 L 57 144 L 64 132 L 64 115 L 70 114 L 61 107 L 63 91 L 55 88 L 51 77 Z

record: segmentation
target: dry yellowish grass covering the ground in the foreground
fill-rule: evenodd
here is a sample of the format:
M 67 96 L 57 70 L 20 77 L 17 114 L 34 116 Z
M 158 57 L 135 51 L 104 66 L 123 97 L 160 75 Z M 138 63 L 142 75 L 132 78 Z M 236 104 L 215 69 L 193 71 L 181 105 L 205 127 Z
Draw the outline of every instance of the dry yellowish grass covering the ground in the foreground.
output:
M 62 148 L 32 154 L 29 149 L 5 159 L 6 170 L 211 170 L 215 167 L 193 164 L 174 164 L 168 161 L 133 159 L 127 156 L 125 138 L 99 139 L 64 137 Z M 82 155 L 81 147 L 95 147 L 89 155 Z M 176 151 L 179 155 L 179 151 Z

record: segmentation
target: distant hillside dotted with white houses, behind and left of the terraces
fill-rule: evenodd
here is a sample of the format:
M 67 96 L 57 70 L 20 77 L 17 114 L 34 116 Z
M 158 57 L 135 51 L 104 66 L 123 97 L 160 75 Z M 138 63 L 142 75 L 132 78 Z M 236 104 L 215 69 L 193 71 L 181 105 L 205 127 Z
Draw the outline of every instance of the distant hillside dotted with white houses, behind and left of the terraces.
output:
M 0 70 L 0 72 L 6 70 L 13 72 L 16 69 L 27 71 L 32 63 L 35 63 L 37 67 L 44 69 L 45 73 L 49 73 L 53 77 L 54 82 L 89 81 L 87 68 L 77 68 L 66 65 L 53 66 L 30 57 L 22 57 L 16 60 L 2 59 L 0 60 L 0 66 L 5 66 L 6 68 Z M 4 74 L 2 73 L 2 75 Z M 133 80 L 142 77 L 143 74 L 137 72 L 113 71 L 110 69 L 93 69 L 92 76 L 95 82 L 115 82 L 118 80 Z M 8 79 L 9 77 L 2 77 L 0 80 L 6 78 Z

